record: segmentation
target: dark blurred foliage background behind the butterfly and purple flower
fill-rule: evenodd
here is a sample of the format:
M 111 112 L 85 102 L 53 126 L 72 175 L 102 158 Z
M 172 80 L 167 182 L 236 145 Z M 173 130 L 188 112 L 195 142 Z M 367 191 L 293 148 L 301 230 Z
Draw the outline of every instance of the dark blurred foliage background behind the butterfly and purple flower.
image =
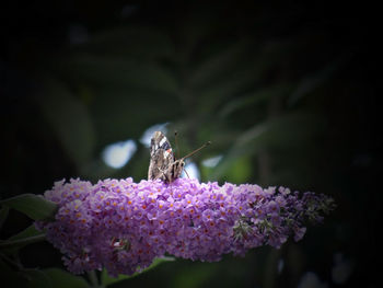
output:
M 42 194 L 63 177 L 139 182 L 149 164 L 140 137 L 170 123 L 182 155 L 213 142 L 193 158 L 201 181 L 283 185 L 337 203 L 324 224 L 281 250 L 213 264 L 179 260 L 118 287 L 381 283 L 375 7 L 9 1 L 0 15 L 1 198 Z M 138 148 L 128 164 L 106 166 L 103 149 L 127 139 Z M 216 155 L 222 155 L 217 166 L 201 165 Z M 30 223 L 12 211 L 1 238 Z M 48 243 L 23 249 L 21 261 L 62 265 Z M 303 285 L 307 275 L 317 286 Z

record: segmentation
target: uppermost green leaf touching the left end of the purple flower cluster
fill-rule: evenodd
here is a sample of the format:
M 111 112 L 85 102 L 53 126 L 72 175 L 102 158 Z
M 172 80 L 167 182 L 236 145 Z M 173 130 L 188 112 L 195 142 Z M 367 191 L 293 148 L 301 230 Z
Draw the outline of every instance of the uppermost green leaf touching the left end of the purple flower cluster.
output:
M 23 212 L 33 220 L 53 219 L 58 208 L 57 204 L 35 194 L 23 194 L 8 198 L 1 200 L 0 205 Z

